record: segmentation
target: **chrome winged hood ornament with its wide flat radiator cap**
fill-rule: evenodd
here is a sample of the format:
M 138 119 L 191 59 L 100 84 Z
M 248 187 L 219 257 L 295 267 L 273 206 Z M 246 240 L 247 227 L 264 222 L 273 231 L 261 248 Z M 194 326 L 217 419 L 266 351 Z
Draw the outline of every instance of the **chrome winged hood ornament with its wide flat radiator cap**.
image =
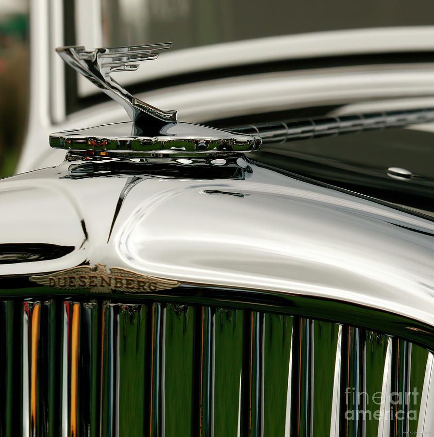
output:
M 258 150 L 260 136 L 177 122 L 176 111 L 161 110 L 137 99 L 111 77 L 113 72 L 136 70 L 137 62 L 156 59 L 157 50 L 171 45 L 57 48 L 69 66 L 120 103 L 131 121 L 51 134 L 50 146 L 118 157 L 220 156 Z

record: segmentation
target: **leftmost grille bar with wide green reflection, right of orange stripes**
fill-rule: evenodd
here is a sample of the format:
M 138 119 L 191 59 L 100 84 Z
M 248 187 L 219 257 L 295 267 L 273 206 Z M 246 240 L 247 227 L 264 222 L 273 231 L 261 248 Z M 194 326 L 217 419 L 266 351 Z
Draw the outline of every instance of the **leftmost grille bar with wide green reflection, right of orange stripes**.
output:
M 103 303 L 102 435 L 138 437 L 147 431 L 145 304 Z M 111 385 L 111 386 L 110 386 Z

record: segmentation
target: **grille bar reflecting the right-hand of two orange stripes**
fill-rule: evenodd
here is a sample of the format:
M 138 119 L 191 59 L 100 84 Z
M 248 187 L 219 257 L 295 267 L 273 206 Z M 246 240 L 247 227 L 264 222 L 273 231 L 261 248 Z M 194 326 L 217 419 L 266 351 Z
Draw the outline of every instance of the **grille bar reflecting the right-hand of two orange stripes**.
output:
M 57 300 L 57 308 L 59 352 L 53 356 L 61 414 L 52 433 L 56 435 L 60 426 L 62 437 L 96 435 L 100 429 L 100 308 L 95 300 Z

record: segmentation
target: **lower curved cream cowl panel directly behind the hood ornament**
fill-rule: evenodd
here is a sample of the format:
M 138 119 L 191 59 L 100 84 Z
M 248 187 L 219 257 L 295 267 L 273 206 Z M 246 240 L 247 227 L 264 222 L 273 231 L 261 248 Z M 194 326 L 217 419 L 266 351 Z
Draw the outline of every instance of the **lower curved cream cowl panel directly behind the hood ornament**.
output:
M 421 94 L 431 93 L 434 77 L 432 71 L 433 67 L 425 64 L 413 66 L 410 70 L 408 66 L 400 64 L 371 65 L 367 67 L 367 71 L 348 66 L 266 74 L 252 74 L 249 71 L 249 74 L 242 77 L 169 86 L 158 91 L 141 93 L 139 97 L 161 107 L 173 105 L 178 109 L 180 119 L 201 124 L 209 124 L 214 119 L 253 113 L 294 108 L 302 110 L 336 101 L 344 106 L 333 111 L 330 116 L 416 109 L 433 107 L 432 97 L 419 97 Z M 89 85 L 93 86 L 90 83 Z M 396 90 L 400 90 L 399 95 L 396 95 Z M 333 101 L 330 101 L 331 93 L 334 96 Z M 363 104 L 360 103 L 361 99 Z M 359 104 L 351 105 L 355 101 Z M 348 104 L 350 105 L 346 106 Z M 26 147 L 19 171 L 59 164 L 64 156 L 62 151 L 42 146 L 53 132 L 115 123 L 125 119 L 123 108 L 114 101 L 108 101 L 92 107 L 87 107 L 86 104 L 86 109 L 74 112 L 61 124 L 40 124 L 37 130 L 34 128 L 32 142 Z M 227 121 L 222 127 L 249 122 Z

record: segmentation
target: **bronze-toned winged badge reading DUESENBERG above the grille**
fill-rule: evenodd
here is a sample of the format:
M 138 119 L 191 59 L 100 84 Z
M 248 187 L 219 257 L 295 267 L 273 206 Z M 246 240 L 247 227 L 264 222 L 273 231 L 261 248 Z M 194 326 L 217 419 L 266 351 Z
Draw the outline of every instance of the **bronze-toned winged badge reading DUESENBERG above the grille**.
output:
M 91 293 L 148 293 L 180 286 L 177 281 L 145 276 L 119 267 L 110 268 L 108 273 L 104 264 L 95 264 L 95 267 L 79 266 L 49 275 L 34 275 L 29 279 L 37 284 L 62 290 L 90 288 Z

